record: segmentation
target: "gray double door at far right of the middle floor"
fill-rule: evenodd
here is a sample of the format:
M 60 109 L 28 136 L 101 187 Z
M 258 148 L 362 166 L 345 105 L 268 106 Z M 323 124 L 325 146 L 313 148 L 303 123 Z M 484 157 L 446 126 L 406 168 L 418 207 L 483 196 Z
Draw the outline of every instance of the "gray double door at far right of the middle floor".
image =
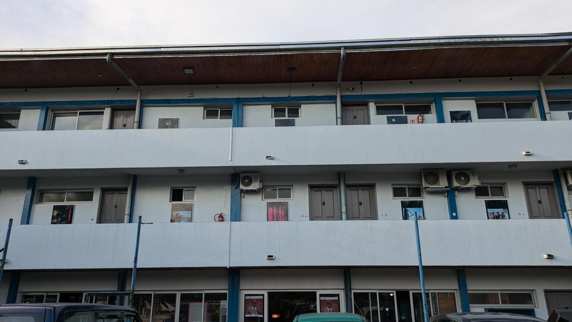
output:
M 530 218 L 562 218 L 556 203 L 553 184 L 525 183 L 525 192 Z

